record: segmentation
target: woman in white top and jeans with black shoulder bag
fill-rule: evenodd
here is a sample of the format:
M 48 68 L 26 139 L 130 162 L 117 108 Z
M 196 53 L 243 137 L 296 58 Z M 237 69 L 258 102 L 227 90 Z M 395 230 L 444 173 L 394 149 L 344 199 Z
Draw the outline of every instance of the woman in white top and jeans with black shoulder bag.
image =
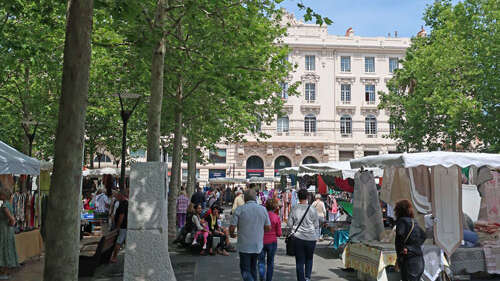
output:
M 307 190 L 301 189 L 298 192 L 299 204 L 292 208 L 287 226 L 295 230 L 300 220 L 307 211 L 307 214 L 298 228 L 295 236 L 295 267 L 297 271 L 297 281 L 311 280 L 314 249 L 318 235 L 319 218 L 316 208 L 308 208 Z

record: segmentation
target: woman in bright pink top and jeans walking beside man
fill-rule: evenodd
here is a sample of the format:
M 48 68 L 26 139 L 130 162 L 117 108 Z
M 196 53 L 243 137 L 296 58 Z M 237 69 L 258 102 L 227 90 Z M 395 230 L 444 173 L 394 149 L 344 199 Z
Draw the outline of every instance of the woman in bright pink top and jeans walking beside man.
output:
M 271 230 L 264 232 L 264 247 L 258 257 L 259 275 L 261 281 L 273 280 L 274 255 L 276 254 L 276 249 L 278 248 L 278 237 L 281 236 L 280 217 L 275 213 L 278 208 L 279 205 L 276 199 L 269 199 L 266 201 L 266 209 L 269 214 L 269 220 L 271 221 Z

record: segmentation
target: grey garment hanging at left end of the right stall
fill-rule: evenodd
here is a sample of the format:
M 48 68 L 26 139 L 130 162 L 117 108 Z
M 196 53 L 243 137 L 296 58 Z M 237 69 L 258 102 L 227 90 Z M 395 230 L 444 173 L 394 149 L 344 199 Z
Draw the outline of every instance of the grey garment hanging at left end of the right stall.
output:
M 352 221 L 349 235 L 354 242 L 379 240 L 384 231 L 382 209 L 375 179 L 370 171 L 355 175 Z

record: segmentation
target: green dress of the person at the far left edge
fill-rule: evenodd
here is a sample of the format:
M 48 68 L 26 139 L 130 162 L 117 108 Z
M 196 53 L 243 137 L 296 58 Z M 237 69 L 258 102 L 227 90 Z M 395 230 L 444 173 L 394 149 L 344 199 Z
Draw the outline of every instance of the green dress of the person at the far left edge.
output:
M 0 208 L 0 267 L 17 267 L 19 263 L 14 227 L 9 225 L 9 219 L 3 208 L 7 208 L 10 214 L 14 213 L 12 205 L 4 201 L 3 207 Z

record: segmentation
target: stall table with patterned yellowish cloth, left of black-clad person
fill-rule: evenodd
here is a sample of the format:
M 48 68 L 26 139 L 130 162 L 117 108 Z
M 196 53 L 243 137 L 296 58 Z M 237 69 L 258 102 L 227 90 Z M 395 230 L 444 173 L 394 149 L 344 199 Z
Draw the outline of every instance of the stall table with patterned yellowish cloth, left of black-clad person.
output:
M 357 270 L 358 279 L 364 276 L 378 281 L 388 281 L 387 266 L 396 264 L 394 244 L 368 241 L 349 243 L 344 251 L 344 266 Z

